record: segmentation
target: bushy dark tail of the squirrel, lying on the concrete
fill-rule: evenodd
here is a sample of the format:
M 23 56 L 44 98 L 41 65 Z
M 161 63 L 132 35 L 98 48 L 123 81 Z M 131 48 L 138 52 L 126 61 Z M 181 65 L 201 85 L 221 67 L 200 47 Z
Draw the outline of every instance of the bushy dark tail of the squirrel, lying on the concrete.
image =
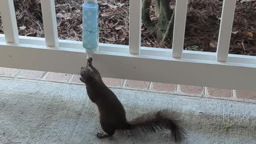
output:
M 157 111 L 156 113 L 150 113 L 142 115 L 132 122 L 130 122 L 130 131 L 142 132 L 156 132 L 163 129 L 169 129 L 172 133 L 171 138 L 174 141 L 181 141 L 184 138 L 185 132 L 183 129 L 168 116 L 167 110 Z

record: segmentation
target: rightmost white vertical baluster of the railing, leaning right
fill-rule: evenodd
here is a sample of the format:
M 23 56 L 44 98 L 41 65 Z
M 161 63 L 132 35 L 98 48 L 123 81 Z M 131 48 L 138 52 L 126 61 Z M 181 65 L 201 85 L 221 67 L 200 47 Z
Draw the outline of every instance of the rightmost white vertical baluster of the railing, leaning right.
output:
M 217 61 L 227 61 L 236 0 L 224 0 L 217 46 Z

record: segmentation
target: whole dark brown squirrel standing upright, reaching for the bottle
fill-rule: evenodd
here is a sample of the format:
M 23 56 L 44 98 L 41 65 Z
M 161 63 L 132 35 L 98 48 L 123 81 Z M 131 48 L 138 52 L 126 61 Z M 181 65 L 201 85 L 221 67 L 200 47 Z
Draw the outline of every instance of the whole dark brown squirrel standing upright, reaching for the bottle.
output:
M 172 119 L 167 117 L 167 111 L 157 111 L 155 114 L 142 115 L 133 122 L 127 122 L 125 110 L 116 95 L 103 83 L 99 71 L 92 66 L 92 58 L 88 59 L 88 66 L 81 68 L 80 81 L 85 83 L 89 98 L 99 109 L 102 133 L 98 138 L 110 137 L 115 130 L 153 131 L 169 129 L 174 141 L 181 141 L 185 132 Z

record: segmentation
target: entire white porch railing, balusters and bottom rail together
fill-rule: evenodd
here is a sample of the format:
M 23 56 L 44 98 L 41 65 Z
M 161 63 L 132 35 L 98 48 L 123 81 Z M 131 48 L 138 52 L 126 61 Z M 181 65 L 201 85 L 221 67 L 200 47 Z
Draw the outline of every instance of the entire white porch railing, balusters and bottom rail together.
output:
M 82 42 L 59 40 L 54 0 L 41 2 L 45 38 L 18 36 L 13 1 L 0 1 L 0 67 L 79 74 Z M 256 57 L 228 54 L 236 0 L 223 2 L 217 53 L 182 49 L 187 4 L 176 2 L 173 49 L 156 49 L 140 46 L 141 0 L 130 0 L 130 45 L 100 44 L 95 67 L 104 77 L 255 91 Z

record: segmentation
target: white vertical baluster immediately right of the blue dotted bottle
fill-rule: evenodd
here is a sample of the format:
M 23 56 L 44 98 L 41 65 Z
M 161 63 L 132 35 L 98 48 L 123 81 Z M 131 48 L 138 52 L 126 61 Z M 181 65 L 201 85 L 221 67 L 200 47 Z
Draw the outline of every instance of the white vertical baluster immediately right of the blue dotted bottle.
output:
M 141 5 L 142 0 L 130 0 L 129 49 L 131 54 L 140 53 Z

